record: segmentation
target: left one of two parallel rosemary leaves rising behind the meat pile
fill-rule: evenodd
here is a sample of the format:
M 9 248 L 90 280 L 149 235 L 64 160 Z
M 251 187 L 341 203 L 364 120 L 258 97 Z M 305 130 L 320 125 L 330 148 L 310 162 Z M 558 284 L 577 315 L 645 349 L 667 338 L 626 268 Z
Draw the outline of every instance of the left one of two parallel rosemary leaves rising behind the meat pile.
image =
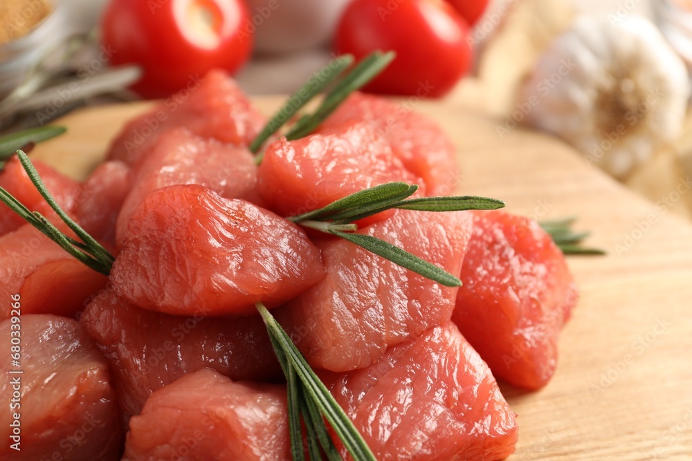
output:
M 322 93 L 322 91 L 334 82 L 346 68 L 353 64 L 353 60 L 352 55 L 340 56 L 311 75 L 307 82 L 298 91 L 295 91 L 281 109 L 279 109 L 271 120 L 267 122 L 262 133 L 257 135 L 257 138 L 250 144 L 250 150 L 253 153 L 257 153 L 260 147 L 262 147 L 262 144 L 264 144 L 271 135 L 279 131 L 284 123 L 291 120 L 293 115 L 298 113 L 298 111 L 313 100 L 314 97 Z

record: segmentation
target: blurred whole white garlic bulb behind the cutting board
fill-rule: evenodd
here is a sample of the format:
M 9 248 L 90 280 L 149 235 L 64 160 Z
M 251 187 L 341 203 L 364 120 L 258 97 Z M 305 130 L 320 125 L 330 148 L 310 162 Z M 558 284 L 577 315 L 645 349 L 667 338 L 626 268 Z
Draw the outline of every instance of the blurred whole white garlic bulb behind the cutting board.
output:
M 520 89 L 525 122 L 623 179 L 682 130 L 689 76 L 643 17 L 579 17 Z M 530 110 L 529 110 L 530 109 Z

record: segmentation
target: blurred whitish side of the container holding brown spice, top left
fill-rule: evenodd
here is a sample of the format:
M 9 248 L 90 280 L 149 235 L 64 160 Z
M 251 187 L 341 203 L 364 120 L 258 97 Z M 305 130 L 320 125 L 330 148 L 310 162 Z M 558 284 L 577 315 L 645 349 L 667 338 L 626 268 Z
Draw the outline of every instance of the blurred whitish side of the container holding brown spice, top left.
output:
M 27 35 L 0 44 L 0 98 L 11 93 L 31 66 L 60 46 L 66 37 L 64 6 L 60 0 L 52 0 L 51 3 L 53 10 Z

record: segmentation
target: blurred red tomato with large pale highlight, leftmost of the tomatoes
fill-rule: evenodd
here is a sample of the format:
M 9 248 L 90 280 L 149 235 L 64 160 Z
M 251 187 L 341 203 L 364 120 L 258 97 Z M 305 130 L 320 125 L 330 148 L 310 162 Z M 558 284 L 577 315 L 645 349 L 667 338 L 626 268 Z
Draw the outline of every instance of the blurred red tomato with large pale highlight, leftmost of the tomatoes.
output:
M 101 20 L 111 64 L 143 68 L 133 89 L 166 97 L 211 68 L 233 73 L 253 44 L 242 0 L 111 0 Z

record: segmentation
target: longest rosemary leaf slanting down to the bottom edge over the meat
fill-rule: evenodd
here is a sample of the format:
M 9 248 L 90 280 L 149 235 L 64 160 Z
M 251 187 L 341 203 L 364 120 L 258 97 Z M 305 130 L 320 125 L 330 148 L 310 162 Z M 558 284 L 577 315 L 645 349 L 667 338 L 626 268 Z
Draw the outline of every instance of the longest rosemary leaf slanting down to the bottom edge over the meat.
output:
M 338 435 L 355 460 L 376 461 L 372 451 L 368 448 L 361 434 L 358 433 L 353 422 L 349 420 L 348 415 L 336 403 L 329 390 L 310 368 L 298 348 L 291 341 L 289 335 L 286 334 L 262 303 L 257 303 L 256 307 L 264 320 L 269 335 L 274 337 L 277 344 L 276 347 L 279 348 L 282 354 L 285 355 L 286 360 L 290 361 L 291 366 L 295 369 L 295 373 L 298 375 L 298 379 L 300 379 L 304 388 L 304 398 L 314 402 L 317 408 L 319 408 L 320 413 L 327 419 L 331 428 L 334 429 L 336 435 Z M 311 438 L 308 438 L 308 442 L 311 440 Z

